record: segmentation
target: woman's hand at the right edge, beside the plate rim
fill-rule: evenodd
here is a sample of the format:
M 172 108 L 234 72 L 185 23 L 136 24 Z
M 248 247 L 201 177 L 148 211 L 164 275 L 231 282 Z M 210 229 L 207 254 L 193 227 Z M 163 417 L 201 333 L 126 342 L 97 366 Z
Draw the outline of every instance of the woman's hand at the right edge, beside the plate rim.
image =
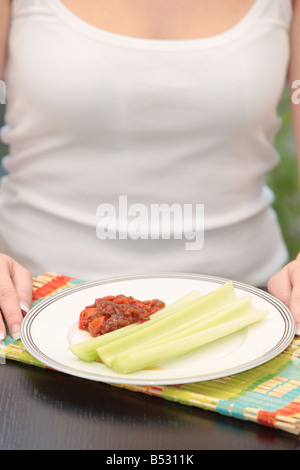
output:
M 300 253 L 268 282 L 270 294 L 281 300 L 292 312 L 300 335 Z

